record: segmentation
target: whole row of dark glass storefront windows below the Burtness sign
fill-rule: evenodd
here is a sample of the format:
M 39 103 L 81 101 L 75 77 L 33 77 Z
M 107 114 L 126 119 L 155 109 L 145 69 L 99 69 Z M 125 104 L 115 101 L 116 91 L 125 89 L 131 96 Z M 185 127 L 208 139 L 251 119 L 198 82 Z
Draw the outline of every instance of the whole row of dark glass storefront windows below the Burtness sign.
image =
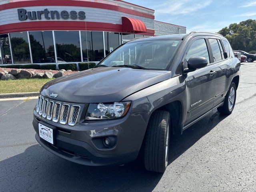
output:
M 0 35 L 0 64 L 12 64 L 12 57 L 14 64 L 96 62 L 120 44 L 144 35 L 102 31 L 30 31 L 14 32 L 9 36 L 10 42 L 8 34 Z

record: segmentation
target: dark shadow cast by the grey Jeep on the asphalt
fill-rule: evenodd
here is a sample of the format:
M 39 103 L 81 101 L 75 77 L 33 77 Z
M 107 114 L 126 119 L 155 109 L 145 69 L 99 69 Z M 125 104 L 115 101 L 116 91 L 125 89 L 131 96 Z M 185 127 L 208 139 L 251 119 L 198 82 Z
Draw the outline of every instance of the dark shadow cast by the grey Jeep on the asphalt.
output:
M 169 166 L 224 118 L 212 113 L 181 136 L 171 136 Z M 151 192 L 163 175 L 144 170 L 138 161 L 109 168 L 82 166 L 54 156 L 39 144 L 2 160 L 0 173 L 0 191 L 8 192 Z

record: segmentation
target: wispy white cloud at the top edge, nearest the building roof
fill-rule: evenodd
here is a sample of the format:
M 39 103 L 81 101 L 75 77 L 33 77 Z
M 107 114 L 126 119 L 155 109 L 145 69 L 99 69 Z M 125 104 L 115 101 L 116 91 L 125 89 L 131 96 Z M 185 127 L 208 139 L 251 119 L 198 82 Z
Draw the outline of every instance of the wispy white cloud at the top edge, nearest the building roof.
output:
M 212 0 L 166 0 L 161 5 L 155 6 L 158 14 L 190 14 L 212 3 Z

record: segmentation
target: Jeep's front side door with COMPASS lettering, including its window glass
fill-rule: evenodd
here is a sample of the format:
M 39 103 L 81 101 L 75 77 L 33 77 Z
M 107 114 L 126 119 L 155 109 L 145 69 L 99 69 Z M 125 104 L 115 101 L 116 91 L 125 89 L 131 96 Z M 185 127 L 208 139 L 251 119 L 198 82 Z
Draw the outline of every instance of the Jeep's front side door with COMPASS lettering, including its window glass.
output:
M 210 52 L 205 38 L 193 38 L 186 50 L 184 65 L 193 56 L 208 60 L 208 66 L 189 72 L 186 77 L 188 90 L 188 115 L 186 123 L 198 118 L 212 109 L 216 95 L 216 72 L 210 63 Z

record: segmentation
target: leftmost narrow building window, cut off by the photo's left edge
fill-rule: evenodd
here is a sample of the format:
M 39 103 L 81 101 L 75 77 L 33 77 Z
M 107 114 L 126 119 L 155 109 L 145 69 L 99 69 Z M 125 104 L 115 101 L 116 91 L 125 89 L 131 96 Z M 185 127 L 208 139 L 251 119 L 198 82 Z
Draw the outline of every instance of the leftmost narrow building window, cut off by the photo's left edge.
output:
M 1 46 L 1 56 L 3 59 L 2 64 L 12 64 L 12 56 L 11 56 L 8 34 L 0 35 L 0 46 Z

